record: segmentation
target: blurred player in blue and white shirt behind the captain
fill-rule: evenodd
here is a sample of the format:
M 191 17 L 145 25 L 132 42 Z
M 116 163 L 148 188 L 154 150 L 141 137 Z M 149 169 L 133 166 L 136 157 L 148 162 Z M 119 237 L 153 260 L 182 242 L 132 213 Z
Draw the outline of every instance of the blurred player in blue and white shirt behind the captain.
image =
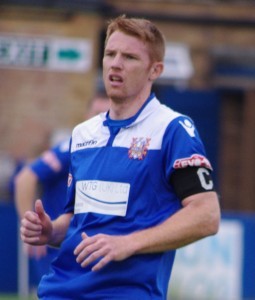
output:
M 104 92 L 97 93 L 89 104 L 86 119 L 109 109 L 109 100 Z M 14 180 L 15 204 L 18 215 L 23 217 L 27 210 L 34 207 L 34 201 L 40 197 L 52 219 L 64 211 L 67 178 L 70 163 L 69 145 L 71 132 L 56 131 L 51 137 L 52 148 L 26 164 Z M 37 284 L 43 274 L 48 273 L 49 265 L 58 253 L 57 248 L 46 245 L 24 245 L 24 250 L 31 258 L 32 270 Z

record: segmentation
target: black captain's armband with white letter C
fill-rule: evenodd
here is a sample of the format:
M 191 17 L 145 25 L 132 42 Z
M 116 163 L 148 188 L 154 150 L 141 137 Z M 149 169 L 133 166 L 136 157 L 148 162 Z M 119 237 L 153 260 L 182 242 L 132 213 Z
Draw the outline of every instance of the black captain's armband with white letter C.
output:
M 170 183 L 181 200 L 194 194 L 214 191 L 211 172 L 203 167 L 175 170 L 170 178 Z

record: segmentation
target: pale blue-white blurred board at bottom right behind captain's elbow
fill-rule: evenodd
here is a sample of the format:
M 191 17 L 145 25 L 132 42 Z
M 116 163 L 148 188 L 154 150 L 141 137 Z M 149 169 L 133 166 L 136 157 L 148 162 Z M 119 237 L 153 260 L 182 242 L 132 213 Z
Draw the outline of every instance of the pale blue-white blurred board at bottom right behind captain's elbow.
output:
M 176 253 L 171 300 L 241 300 L 243 225 L 223 220 L 219 233 Z

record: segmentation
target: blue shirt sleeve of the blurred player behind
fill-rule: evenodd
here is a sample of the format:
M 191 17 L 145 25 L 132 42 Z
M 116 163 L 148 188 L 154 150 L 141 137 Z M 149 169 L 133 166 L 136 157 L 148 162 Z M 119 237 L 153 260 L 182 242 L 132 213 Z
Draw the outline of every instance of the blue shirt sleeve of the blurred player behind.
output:
M 40 182 L 52 181 L 68 173 L 70 163 L 69 140 L 45 151 L 38 159 L 30 164 Z

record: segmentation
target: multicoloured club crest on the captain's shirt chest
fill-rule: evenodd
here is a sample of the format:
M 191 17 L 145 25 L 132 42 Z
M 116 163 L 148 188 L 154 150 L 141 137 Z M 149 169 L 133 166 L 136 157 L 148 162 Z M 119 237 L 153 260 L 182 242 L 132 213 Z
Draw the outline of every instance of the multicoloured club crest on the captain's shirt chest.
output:
M 148 152 L 148 147 L 150 144 L 150 138 L 133 138 L 131 146 L 128 150 L 128 157 L 131 159 L 142 160 Z

